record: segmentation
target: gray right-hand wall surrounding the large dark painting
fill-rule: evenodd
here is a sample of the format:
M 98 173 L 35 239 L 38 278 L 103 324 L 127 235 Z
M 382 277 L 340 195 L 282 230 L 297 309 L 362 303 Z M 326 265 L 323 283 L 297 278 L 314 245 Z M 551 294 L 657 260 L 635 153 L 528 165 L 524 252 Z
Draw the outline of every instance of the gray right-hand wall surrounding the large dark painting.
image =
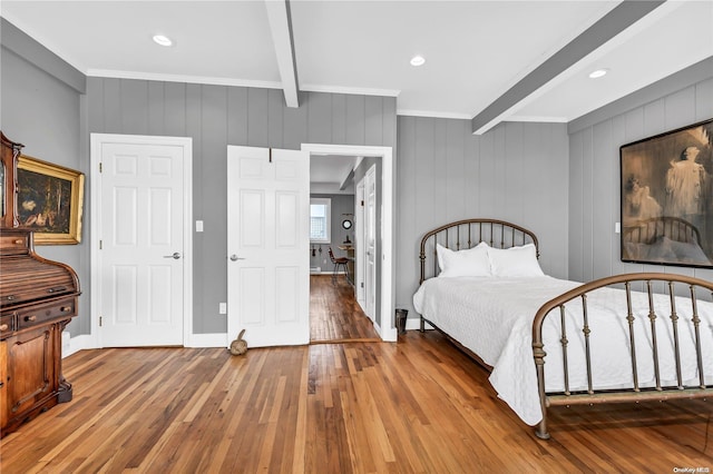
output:
M 713 118 L 713 58 L 569 124 L 569 277 L 671 271 L 713 279 L 713 270 L 621 261 L 619 147 Z

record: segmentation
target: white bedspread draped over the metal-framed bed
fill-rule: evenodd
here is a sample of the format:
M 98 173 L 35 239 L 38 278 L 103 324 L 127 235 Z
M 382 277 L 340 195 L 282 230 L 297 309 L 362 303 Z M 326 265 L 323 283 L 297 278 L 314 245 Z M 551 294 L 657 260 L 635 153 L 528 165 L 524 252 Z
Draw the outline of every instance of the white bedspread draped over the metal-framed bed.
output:
M 543 418 L 537 389 L 537 375 L 533 358 L 533 319 L 547 300 L 565 293 L 579 283 L 553 277 L 492 278 L 459 277 L 430 278 L 413 296 L 418 313 L 478 354 L 494 367 L 489 381 L 504 399 L 527 424 Z M 683 286 L 683 285 L 682 285 Z M 635 294 L 635 348 L 639 386 L 655 386 L 653 344 L 646 294 Z M 710 298 L 709 298 L 710 299 Z M 690 298 L 677 298 L 676 313 L 682 353 L 684 383 L 697 385 L 695 338 L 691 322 Z M 670 298 L 655 295 L 658 319 L 660 371 L 662 384 L 676 381 L 673 352 Z M 567 305 L 566 332 L 568 338 L 569 389 L 587 388 L 584 358 L 584 335 L 580 302 Z M 633 385 L 629 356 L 626 296 L 621 289 L 603 288 L 588 295 L 590 348 L 594 388 L 622 388 Z M 545 320 L 544 332 L 545 378 L 547 392 L 564 391 L 564 371 L 559 312 Z M 703 362 L 706 384 L 713 383 L 713 304 L 700 302 L 700 329 L 703 338 Z

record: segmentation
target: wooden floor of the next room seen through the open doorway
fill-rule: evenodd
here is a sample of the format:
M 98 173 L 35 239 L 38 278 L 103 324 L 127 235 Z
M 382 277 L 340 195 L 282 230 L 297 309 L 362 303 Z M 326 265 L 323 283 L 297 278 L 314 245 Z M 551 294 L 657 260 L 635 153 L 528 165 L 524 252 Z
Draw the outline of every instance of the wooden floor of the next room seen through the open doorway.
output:
M 378 342 L 344 275 L 310 275 L 310 342 Z

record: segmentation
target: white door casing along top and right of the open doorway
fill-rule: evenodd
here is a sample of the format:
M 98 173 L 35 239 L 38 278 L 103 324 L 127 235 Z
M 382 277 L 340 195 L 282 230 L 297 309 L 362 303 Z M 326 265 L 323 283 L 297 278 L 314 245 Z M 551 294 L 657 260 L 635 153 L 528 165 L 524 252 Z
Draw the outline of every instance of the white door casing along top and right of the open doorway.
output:
M 302 144 L 302 150 L 312 155 L 361 156 L 380 158 L 382 161 L 381 197 L 381 324 L 374 327 L 382 340 L 397 342 L 398 333 L 393 320 L 395 275 L 393 256 L 395 255 L 393 229 L 395 203 L 395 162 L 392 147 L 359 146 L 359 145 L 328 145 Z

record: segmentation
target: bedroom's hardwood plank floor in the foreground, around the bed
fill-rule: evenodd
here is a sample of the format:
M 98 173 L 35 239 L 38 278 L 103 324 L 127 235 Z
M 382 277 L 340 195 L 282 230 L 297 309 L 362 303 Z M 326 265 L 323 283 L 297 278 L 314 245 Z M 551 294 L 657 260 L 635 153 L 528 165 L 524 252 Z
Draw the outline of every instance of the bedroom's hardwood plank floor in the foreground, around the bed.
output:
M 713 470 L 713 401 L 556 408 L 544 442 L 436 332 L 240 357 L 82 350 L 64 366 L 72 402 L 0 442 L 3 474 Z

